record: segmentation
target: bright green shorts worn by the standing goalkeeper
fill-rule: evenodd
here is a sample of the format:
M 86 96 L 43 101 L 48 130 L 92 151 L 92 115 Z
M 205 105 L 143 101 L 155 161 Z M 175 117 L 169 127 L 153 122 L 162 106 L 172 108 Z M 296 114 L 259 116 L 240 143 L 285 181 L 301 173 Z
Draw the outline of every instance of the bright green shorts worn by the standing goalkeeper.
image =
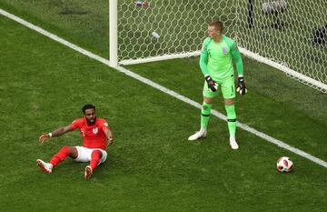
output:
M 223 81 L 222 83 L 217 83 L 217 84 L 218 84 L 218 89 L 217 91 L 213 92 L 210 90 L 208 84 L 204 80 L 203 96 L 213 98 L 215 96 L 218 96 L 219 90 L 222 91 L 224 99 L 234 98 L 236 96 L 234 77 L 231 77 Z

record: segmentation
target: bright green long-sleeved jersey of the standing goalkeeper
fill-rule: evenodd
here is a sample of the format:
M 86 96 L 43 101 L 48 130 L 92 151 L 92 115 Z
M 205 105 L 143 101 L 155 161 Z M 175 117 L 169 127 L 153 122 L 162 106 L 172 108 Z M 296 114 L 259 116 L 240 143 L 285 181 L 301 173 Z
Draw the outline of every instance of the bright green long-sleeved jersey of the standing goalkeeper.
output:
M 238 76 L 243 76 L 243 61 L 236 43 L 223 35 L 219 44 L 207 37 L 203 41 L 200 67 L 204 76 L 211 76 L 216 82 L 223 82 L 233 75 L 233 59 Z

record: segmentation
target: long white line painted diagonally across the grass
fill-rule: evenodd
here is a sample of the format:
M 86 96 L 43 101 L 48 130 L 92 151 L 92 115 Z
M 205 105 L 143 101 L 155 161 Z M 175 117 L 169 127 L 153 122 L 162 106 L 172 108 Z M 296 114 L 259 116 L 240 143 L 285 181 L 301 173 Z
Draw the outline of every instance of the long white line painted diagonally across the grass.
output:
M 89 56 L 89 57 L 94 58 L 95 60 L 103 63 L 104 65 L 109 66 L 109 60 L 104 59 L 101 56 L 94 55 L 93 53 L 85 50 L 84 48 L 81 48 L 81 47 L 79 47 L 77 45 L 74 45 L 74 44 L 64 40 L 63 38 L 61 38 L 61 37 L 59 37 L 57 35 L 54 35 L 52 33 L 49 33 L 47 31 L 45 31 L 44 29 L 40 28 L 37 25 L 33 25 L 33 24 L 29 23 L 29 22 L 26 22 L 22 18 L 19 18 L 19 17 L 15 16 L 15 15 L 9 14 L 9 13 L 5 12 L 5 10 L 2 10 L 2 9 L 0 9 L 0 14 L 14 20 L 15 22 L 18 22 L 21 25 L 25 25 L 26 27 L 28 27 L 30 29 L 33 29 L 33 30 L 35 30 L 36 32 L 38 32 L 38 33 L 40 33 L 42 35 L 50 37 L 54 41 L 57 41 L 57 42 L 59 42 L 59 43 L 61 43 L 63 45 L 66 45 L 66 46 L 74 49 L 75 51 L 83 54 L 84 56 Z M 168 88 L 166 88 L 164 86 L 160 86 L 159 84 L 154 83 L 150 79 L 147 79 L 147 78 L 145 78 L 143 76 L 139 76 L 139 75 L 135 74 L 134 72 L 131 72 L 131 71 L 127 70 L 126 68 L 124 68 L 122 66 L 118 66 L 115 69 L 117 71 L 121 72 L 121 73 L 124 73 L 127 76 L 131 76 L 134 79 L 137 79 L 137 80 L 143 82 L 144 84 L 146 84 L 148 86 L 152 86 L 152 87 L 162 91 L 163 93 L 165 93 L 167 95 L 173 96 L 173 97 L 183 101 L 184 103 L 187 103 L 187 104 L 189 104 L 191 106 L 195 106 L 195 107 L 197 107 L 199 109 L 202 108 L 202 105 L 200 105 L 199 103 L 194 102 L 193 100 L 191 100 L 191 99 L 189 99 L 189 98 L 187 98 L 185 96 L 182 96 L 182 95 L 180 95 L 180 94 L 174 92 L 173 90 L 170 90 L 170 89 L 168 89 Z M 223 120 L 227 119 L 226 116 L 224 116 L 223 114 L 219 113 L 216 110 L 213 110 L 212 114 L 213 114 L 213 116 L 217 116 L 220 119 L 223 119 Z M 322 159 L 319 159 L 318 157 L 315 157 L 315 156 L 312 156 L 312 155 L 310 155 L 310 154 L 308 154 L 306 152 L 303 152 L 301 149 L 289 146 L 288 144 L 282 142 L 281 140 L 275 139 L 272 136 L 268 136 L 268 135 L 266 135 L 266 134 L 264 134 L 264 133 L 262 133 L 262 132 L 260 132 L 260 131 L 258 131 L 256 129 L 254 129 L 251 126 L 244 125 L 244 124 L 242 124 L 240 122 L 237 122 L 237 126 L 242 128 L 245 131 L 248 131 L 248 132 L 254 134 L 255 136 L 262 137 L 264 140 L 266 140 L 266 141 L 268 141 L 268 142 L 270 142 L 272 144 L 275 144 L 275 145 L 280 146 L 280 147 L 282 147 L 284 149 L 287 149 L 287 150 L 291 151 L 292 153 L 295 153 L 296 155 L 305 157 L 305 158 L 311 160 L 312 162 L 321 165 L 322 167 L 327 167 L 327 162 L 323 161 Z

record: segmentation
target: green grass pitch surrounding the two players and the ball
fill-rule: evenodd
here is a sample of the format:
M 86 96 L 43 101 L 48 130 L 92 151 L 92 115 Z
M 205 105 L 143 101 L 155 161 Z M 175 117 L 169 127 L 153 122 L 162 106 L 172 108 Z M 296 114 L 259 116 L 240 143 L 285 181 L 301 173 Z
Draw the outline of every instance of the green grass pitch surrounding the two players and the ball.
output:
M 58 7 L 42 13 L 42 4 L 55 1 L 40 2 L 35 10 L 19 1 L 2 1 L 0 8 L 106 56 L 105 38 L 96 30 L 101 25 L 84 33 L 78 15 L 52 15 Z M 207 138 L 189 142 L 199 127 L 197 108 L 4 16 L 0 51 L 1 211 L 320 212 L 327 207 L 325 167 L 240 129 L 240 149 L 232 151 L 226 123 L 215 117 Z M 201 103 L 197 63 L 189 58 L 127 68 Z M 244 67 L 249 94 L 237 98 L 238 119 L 326 161 L 327 96 L 247 58 Z M 94 103 L 97 115 L 113 128 L 106 163 L 88 181 L 85 164 L 69 158 L 45 175 L 35 159 L 80 145 L 81 137 L 76 131 L 41 146 L 38 136 L 82 116 L 85 103 Z M 222 99 L 214 109 L 224 113 Z M 292 158 L 291 173 L 277 171 L 279 156 Z

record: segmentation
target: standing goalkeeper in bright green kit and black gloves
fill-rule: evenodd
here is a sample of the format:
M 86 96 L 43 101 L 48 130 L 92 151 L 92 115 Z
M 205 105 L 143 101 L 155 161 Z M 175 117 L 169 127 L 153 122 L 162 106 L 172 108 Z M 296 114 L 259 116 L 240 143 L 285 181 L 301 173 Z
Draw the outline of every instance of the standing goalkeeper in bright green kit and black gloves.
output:
M 227 122 L 230 134 L 230 145 L 238 149 L 235 139 L 236 113 L 235 96 L 236 92 L 245 95 L 247 90 L 243 79 L 243 61 L 241 53 L 234 41 L 223 35 L 223 23 L 213 21 L 208 25 L 208 35 L 203 41 L 203 48 L 200 56 L 200 67 L 205 78 L 203 86 L 203 107 L 201 114 L 200 131 L 190 136 L 189 140 L 196 140 L 205 137 L 210 119 L 213 97 L 218 96 L 219 89 L 223 94 Z M 235 76 L 233 71 L 233 60 L 235 61 L 238 85 L 235 89 Z

